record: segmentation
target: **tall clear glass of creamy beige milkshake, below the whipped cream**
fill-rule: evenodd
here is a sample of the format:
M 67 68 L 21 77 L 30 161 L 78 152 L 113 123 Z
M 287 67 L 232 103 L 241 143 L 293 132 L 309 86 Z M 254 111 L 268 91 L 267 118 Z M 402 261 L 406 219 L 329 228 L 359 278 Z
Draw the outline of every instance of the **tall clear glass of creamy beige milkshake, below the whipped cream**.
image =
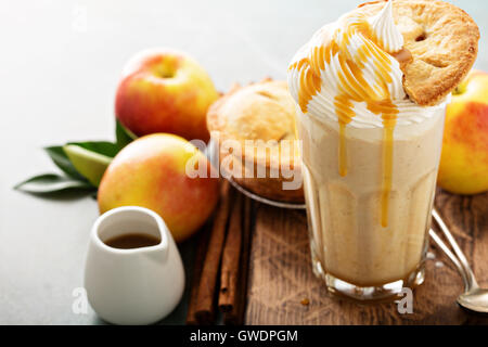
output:
M 313 271 L 330 292 L 375 300 L 423 282 L 446 106 L 427 110 L 395 127 L 385 192 L 383 128 L 344 131 L 297 107 Z

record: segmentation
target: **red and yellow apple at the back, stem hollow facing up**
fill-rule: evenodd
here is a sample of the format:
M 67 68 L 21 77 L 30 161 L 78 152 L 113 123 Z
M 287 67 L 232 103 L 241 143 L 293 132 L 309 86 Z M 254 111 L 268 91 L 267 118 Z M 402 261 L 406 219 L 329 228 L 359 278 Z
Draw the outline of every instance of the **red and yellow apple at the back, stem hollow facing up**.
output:
M 125 66 L 115 115 L 139 137 L 169 132 L 208 141 L 205 118 L 218 97 L 194 59 L 172 49 L 152 49 L 136 54 Z

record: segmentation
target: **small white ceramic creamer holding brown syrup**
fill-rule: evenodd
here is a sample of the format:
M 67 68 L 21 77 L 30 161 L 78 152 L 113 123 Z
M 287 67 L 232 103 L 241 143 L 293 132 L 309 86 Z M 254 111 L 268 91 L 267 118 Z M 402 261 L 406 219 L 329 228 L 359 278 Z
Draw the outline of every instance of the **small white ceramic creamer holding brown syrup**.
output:
M 105 244 L 134 231 L 160 239 L 160 243 L 129 249 Z M 111 323 L 151 324 L 169 314 L 183 294 L 184 270 L 159 215 L 126 206 L 100 216 L 91 231 L 85 287 L 95 312 Z

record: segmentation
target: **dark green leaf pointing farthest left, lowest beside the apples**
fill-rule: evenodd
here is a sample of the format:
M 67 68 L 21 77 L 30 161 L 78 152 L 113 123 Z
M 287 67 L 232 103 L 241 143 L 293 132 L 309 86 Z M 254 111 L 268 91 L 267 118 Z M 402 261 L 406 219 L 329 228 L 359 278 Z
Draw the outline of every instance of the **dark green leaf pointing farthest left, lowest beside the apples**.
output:
M 15 185 L 14 189 L 33 194 L 46 194 L 67 190 L 94 190 L 95 188 L 85 180 L 55 174 L 44 174 L 29 178 Z

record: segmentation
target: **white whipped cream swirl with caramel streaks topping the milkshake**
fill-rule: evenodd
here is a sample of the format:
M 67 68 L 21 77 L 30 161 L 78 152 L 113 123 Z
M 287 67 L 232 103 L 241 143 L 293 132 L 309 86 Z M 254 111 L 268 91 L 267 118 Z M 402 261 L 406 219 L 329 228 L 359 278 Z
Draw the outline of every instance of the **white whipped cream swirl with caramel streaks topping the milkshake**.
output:
M 357 128 L 422 123 L 434 107 L 413 103 L 402 86 L 394 57 L 403 37 L 393 15 L 393 1 L 377 15 L 361 11 L 322 27 L 292 60 L 287 81 L 304 113 Z

